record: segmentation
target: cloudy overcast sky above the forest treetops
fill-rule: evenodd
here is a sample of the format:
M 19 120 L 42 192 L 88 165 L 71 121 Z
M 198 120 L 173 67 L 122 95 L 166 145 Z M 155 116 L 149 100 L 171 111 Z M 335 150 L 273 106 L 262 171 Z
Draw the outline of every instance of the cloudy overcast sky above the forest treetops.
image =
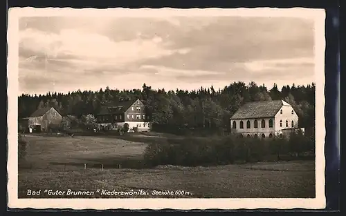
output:
M 315 81 L 309 19 L 24 17 L 19 40 L 20 93 Z

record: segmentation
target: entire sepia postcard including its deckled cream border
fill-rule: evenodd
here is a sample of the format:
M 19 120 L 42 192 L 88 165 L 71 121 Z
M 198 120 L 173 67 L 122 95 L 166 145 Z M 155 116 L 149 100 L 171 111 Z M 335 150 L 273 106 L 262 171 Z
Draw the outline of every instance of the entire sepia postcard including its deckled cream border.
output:
M 8 16 L 10 208 L 325 208 L 324 10 Z

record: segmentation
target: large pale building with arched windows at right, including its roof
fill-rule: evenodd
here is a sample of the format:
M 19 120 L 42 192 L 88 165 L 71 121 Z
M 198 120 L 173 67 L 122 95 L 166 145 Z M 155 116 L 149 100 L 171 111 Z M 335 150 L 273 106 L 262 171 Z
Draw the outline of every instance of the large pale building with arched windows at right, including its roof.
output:
M 230 118 L 231 132 L 244 137 L 286 135 L 298 128 L 298 115 L 283 100 L 256 101 L 244 104 Z M 301 128 L 304 132 L 304 128 Z

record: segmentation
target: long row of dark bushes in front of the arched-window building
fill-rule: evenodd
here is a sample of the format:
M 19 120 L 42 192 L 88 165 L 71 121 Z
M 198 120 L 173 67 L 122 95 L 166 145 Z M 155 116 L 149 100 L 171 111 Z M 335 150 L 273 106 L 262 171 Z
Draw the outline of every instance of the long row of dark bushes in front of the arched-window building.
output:
M 286 138 L 273 137 L 184 137 L 149 144 L 145 149 L 145 163 L 150 166 L 180 165 L 206 166 L 235 162 L 279 161 L 314 157 L 314 139 L 293 134 Z M 289 156 L 289 157 L 288 157 Z

